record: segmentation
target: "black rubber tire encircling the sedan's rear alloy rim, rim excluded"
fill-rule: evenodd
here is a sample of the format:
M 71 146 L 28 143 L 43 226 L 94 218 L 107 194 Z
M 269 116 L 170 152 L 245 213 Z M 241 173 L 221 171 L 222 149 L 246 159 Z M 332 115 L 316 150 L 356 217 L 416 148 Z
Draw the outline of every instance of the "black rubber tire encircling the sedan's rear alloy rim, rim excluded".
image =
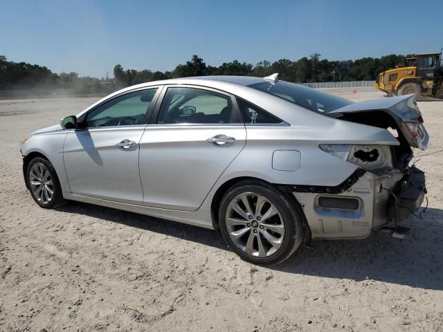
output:
M 242 192 L 253 192 L 265 196 L 267 199 L 269 199 L 269 201 L 275 204 L 280 211 L 282 223 L 284 223 L 285 228 L 284 240 L 282 247 L 271 257 L 251 257 L 247 255 L 246 252 L 237 248 L 234 241 L 230 239 L 225 221 L 226 210 L 230 201 Z M 221 234 L 223 235 L 226 243 L 228 243 L 228 246 L 230 246 L 230 248 L 232 248 L 233 251 L 245 261 L 249 261 L 257 265 L 273 265 L 281 263 L 296 251 L 303 239 L 302 218 L 298 209 L 294 206 L 289 197 L 277 190 L 275 187 L 265 183 L 239 183 L 231 188 L 221 200 L 219 208 L 219 225 Z

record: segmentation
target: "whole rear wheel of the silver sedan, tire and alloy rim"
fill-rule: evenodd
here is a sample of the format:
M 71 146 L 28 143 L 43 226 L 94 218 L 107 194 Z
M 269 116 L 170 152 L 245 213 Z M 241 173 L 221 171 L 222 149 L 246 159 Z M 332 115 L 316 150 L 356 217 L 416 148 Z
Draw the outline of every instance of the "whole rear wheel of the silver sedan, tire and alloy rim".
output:
M 305 216 L 295 199 L 256 180 L 242 181 L 226 192 L 219 207 L 219 225 L 228 246 L 258 265 L 288 259 L 305 235 Z

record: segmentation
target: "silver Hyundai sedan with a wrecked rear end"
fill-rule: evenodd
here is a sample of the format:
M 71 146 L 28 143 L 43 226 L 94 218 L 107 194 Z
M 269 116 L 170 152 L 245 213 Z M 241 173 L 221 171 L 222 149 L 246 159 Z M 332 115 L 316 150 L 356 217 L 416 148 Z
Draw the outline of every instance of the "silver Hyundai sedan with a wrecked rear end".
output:
M 311 239 L 405 237 L 426 194 L 411 147 L 428 141 L 413 95 L 353 103 L 274 74 L 130 86 L 35 131 L 21 154 L 42 208 L 220 230 L 243 259 L 277 264 Z

